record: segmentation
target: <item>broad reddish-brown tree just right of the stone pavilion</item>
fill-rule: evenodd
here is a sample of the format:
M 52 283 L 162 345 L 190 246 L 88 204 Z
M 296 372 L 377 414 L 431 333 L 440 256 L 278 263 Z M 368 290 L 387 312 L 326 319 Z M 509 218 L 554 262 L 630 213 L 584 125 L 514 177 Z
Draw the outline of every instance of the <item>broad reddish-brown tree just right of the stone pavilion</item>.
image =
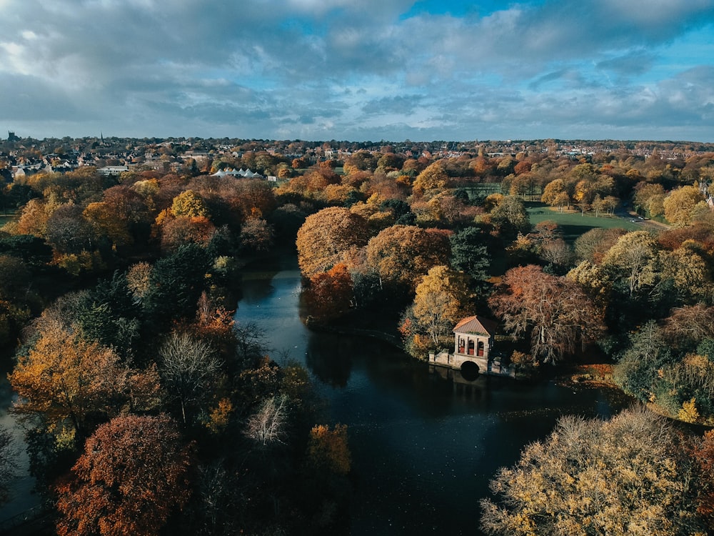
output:
M 570 279 L 533 264 L 508 270 L 488 303 L 514 339 L 530 335 L 534 358 L 556 362 L 604 332 L 600 313 Z

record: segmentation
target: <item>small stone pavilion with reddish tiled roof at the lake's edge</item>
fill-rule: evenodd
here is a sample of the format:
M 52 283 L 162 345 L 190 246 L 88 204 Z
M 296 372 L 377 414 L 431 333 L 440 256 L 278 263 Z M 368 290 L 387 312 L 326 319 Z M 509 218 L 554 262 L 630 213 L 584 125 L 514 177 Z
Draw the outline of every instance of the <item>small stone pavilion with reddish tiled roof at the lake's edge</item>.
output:
M 429 363 L 462 373 L 493 374 L 514 377 L 513 370 L 501 365 L 501 359 L 493 354 L 493 337 L 496 322 L 479 317 L 461 319 L 453 328 L 453 353 L 443 350 L 429 354 Z

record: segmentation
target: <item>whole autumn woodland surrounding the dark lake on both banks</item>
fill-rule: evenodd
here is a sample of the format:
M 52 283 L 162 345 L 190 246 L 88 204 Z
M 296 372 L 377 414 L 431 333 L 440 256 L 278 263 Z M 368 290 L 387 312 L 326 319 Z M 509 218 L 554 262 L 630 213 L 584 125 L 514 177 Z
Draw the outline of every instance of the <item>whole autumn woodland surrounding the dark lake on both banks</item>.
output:
M 311 329 L 423 360 L 483 314 L 524 381 L 606 364 L 638 401 L 563 417 L 494 475 L 482 530 L 714 530 L 714 153 L 206 149 L 181 172 L 2 175 L 0 342 L 57 534 L 344 529 L 349 430 L 231 314 L 241 267 L 295 249 Z M 212 176 L 238 168 L 277 180 Z

